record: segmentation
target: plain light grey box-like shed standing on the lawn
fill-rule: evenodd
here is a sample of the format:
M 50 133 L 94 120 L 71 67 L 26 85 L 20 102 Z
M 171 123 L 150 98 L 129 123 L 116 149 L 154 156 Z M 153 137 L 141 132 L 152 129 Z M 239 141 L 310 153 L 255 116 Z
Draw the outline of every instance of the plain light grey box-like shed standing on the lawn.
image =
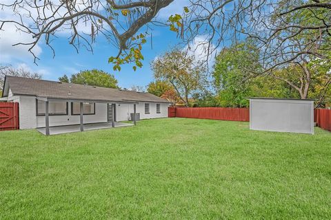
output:
M 314 100 L 249 99 L 251 130 L 314 134 Z

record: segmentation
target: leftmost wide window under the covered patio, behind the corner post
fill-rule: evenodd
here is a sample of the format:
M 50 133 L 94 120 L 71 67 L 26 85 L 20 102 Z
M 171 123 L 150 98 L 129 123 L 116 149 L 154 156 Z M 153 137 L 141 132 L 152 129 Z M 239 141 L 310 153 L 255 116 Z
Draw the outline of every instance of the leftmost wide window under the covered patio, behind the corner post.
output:
M 45 115 L 45 101 L 37 100 L 37 116 Z M 68 115 L 68 102 L 48 102 L 48 115 Z

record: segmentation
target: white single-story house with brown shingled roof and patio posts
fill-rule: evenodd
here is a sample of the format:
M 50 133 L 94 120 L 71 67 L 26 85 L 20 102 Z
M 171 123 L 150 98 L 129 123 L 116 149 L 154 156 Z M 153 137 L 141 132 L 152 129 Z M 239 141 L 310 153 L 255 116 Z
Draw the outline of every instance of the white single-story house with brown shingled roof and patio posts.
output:
M 1 100 L 19 102 L 19 129 L 166 118 L 170 102 L 145 92 L 6 76 Z M 133 118 L 131 118 L 133 117 Z

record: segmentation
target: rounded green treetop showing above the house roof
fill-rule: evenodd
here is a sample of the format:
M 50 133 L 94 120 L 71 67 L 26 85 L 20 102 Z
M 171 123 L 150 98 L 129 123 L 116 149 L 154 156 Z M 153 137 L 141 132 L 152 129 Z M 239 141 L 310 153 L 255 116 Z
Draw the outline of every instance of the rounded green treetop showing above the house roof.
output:
M 59 80 L 68 80 L 68 76 L 64 75 Z M 99 69 L 84 70 L 78 74 L 70 76 L 70 83 L 82 85 L 94 85 L 97 87 L 119 88 L 117 79 L 112 74 L 108 74 Z

